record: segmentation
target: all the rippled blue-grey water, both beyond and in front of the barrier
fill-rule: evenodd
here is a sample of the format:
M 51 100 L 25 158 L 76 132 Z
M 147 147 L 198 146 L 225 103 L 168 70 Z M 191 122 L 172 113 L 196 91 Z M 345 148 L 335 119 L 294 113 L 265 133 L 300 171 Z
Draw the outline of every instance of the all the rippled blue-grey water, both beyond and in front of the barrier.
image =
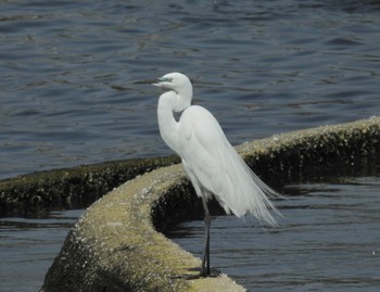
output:
M 138 81 L 173 71 L 233 144 L 378 115 L 379 36 L 369 0 L 0 1 L 0 179 L 172 154 L 160 91 Z M 280 202 L 278 230 L 216 218 L 214 264 L 254 291 L 375 291 L 378 183 L 362 196 L 355 183 L 294 187 L 312 196 Z M 36 291 L 79 213 L 3 219 L 1 290 Z M 198 252 L 202 223 L 183 228 Z M 233 232 L 242 250 L 231 252 L 223 234 Z

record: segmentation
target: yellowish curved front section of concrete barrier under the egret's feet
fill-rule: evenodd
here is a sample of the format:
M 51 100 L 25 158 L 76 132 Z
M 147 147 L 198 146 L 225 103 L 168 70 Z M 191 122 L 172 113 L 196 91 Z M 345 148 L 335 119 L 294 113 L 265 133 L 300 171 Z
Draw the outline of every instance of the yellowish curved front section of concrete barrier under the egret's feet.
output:
M 156 232 L 152 207 L 160 200 L 174 207 L 170 194 L 183 192 L 180 165 L 138 177 L 94 203 L 76 224 L 54 261 L 42 291 L 243 291 L 226 276 L 177 279 L 200 259 Z M 188 183 L 183 183 L 188 186 Z M 170 216 L 170 214 L 167 214 Z M 203 289 L 204 288 L 204 289 Z M 228 290 L 226 290 L 228 289 Z

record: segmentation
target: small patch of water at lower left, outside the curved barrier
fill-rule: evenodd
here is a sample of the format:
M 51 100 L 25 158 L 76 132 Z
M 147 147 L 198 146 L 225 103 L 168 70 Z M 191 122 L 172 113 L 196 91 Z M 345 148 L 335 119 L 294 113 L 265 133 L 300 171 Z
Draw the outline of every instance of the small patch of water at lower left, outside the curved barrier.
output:
M 0 290 L 38 291 L 83 212 L 53 212 L 46 218 L 0 218 Z

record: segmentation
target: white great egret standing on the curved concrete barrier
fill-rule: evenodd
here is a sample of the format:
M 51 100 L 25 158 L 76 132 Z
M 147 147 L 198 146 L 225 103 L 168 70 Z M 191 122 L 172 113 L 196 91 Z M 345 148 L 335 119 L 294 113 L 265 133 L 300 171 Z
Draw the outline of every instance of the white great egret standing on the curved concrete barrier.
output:
M 181 73 L 169 73 L 154 86 L 168 89 L 159 99 L 159 127 L 166 144 L 182 161 L 183 168 L 202 199 L 205 213 L 205 245 L 201 277 L 211 276 L 207 200 L 214 195 L 227 214 L 252 214 L 276 225 L 270 211 L 277 210 L 267 195 L 277 195 L 244 163 L 228 142 L 216 118 L 204 107 L 191 105 L 192 85 Z M 177 122 L 174 112 L 182 112 Z

